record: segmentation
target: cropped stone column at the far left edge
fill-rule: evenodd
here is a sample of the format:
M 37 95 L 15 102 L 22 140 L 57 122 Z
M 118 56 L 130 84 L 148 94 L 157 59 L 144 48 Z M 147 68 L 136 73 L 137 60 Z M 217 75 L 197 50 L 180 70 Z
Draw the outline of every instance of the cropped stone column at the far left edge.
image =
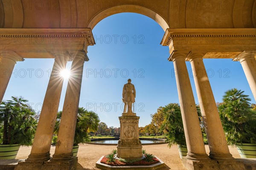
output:
M 17 61 L 24 61 L 22 57 L 14 51 L 1 51 L 0 54 L 0 102 L 3 100 L 9 80 L 12 76 L 13 68 Z

